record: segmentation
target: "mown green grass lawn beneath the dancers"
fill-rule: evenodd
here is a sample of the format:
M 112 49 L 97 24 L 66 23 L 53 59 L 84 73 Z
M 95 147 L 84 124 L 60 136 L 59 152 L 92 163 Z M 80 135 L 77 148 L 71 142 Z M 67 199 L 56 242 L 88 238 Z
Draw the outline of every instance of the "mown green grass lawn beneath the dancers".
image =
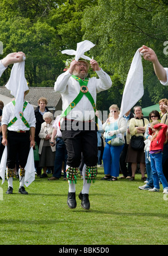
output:
M 49 175 L 49 177 L 52 175 Z M 1 245 L 165 245 L 168 244 L 168 195 L 139 190 L 141 175 L 135 181 L 104 181 L 98 168 L 90 188 L 91 208 L 81 207 L 76 185 L 77 208 L 67 205 L 68 182 L 35 178 L 18 194 L 19 181 L 13 181 L 13 194 L 7 195 L 7 181 L 0 185 Z M 2 180 L 0 180 L 2 182 Z M 2 200 L 3 199 L 3 200 Z

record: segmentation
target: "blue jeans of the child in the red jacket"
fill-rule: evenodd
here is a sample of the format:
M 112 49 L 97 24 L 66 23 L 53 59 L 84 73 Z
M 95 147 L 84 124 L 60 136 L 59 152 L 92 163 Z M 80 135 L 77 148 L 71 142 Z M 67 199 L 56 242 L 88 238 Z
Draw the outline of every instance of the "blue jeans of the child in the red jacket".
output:
M 162 153 L 150 154 L 151 158 L 151 169 L 152 169 L 152 177 L 153 177 L 153 185 L 154 188 L 160 189 L 159 180 L 162 183 L 163 188 L 168 189 L 167 180 L 162 171 Z

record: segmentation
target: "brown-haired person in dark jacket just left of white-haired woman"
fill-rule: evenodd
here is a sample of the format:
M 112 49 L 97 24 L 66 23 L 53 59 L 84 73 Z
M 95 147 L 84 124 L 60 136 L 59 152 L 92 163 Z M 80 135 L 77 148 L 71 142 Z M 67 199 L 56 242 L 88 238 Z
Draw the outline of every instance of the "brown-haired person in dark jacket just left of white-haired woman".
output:
M 46 107 L 47 105 L 47 99 L 44 97 L 41 97 L 38 100 L 38 107 L 35 109 L 35 118 L 36 118 L 36 129 L 35 129 L 35 142 L 37 143 L 38 147 L 40 145 L 40 138 L 39 138 L 39 132 L 41 130 L 41 124 L 43 124 L 44 119 L 43 115 L 45 112 L 48 112 L 49 109 Z M 41 168 L 39 167 L 39 161 L 35 161 L 36 171 L 38 176 L 41 175 Z

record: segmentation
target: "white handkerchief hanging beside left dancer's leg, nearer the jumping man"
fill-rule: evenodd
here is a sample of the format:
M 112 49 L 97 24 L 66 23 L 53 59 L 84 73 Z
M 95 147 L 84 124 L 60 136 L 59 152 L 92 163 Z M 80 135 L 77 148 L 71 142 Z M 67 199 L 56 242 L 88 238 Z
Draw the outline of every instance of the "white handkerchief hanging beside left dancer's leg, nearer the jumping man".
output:
M 35 180 L 35 166 L 33 148 L 30 148 L 29 156 L 25 166 L 25 186 L 29 186 Z

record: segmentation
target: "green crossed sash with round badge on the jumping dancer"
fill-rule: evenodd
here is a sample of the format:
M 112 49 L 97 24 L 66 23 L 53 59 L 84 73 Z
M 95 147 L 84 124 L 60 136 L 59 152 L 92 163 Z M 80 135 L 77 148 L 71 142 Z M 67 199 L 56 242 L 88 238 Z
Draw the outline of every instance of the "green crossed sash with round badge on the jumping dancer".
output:
M 80 102 L 80 100 L 82 99 L 83 95 L 85 95 L 88 100 L 90 101 L 92 107 L 94 108 L 94 111 L 96 112 L 96 104 L 95 101 L 92 97 L 92 95 L 90 94 L 90 92 L 88 92 L 88 88 L 87 88 L 87 84 L 88 84 L 88 79 L 81 79 L 80 77 L 74 76 L 72 75 L 73 79 L 75 79 L 76 81 L 78 81 L 78 83 L 80 84 L 81 88 L 80 88 L 80 93 L 77 95 L 77 97 L 69 104 L 69 106 L 67 107 L 67 109 L 62 113 L 62 115 L 60 116 L 60 118 L 65 117 L 68 115 L 68 113 L 72 110 L 72 108 L 74 108 L 78 102 Z M 95 116 L 95 122 L 97 124 L 97 116 Z

